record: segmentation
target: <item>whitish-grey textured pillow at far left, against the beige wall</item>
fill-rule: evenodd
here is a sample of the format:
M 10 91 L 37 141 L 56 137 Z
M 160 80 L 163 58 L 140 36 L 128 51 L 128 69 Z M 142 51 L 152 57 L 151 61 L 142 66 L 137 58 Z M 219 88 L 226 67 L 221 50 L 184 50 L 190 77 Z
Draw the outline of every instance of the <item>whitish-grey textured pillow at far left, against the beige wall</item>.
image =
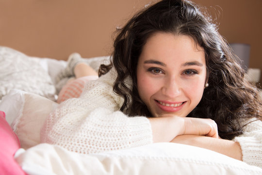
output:
M 40 60 L 0 47 L 0 99 L 11 89 L 20 89 L 54 100 L 55 87 Z

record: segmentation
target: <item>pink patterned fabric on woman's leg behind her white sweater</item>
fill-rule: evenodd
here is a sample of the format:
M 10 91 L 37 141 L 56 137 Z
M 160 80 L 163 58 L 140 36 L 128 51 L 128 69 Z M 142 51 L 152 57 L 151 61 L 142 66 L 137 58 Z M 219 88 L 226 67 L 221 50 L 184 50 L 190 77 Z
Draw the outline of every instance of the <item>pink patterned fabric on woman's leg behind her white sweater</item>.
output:
M 98 76 L 84 76 L 67 83 L 59 92 L 57 103 L 62 103 L 69 98 L 78 98 L 82 93 L 84 85 L 88 81 L 96 79 L 98 79 Z

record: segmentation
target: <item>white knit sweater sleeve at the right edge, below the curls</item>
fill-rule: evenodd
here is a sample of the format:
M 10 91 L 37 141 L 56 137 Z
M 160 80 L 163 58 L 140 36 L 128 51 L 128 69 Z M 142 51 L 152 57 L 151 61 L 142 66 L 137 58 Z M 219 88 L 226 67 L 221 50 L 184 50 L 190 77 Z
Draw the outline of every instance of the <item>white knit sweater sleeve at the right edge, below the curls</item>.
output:
M 262 121 L 247 124 L 244 133 L 234 141 L 241 146 L 244 162 L 262 168 Z

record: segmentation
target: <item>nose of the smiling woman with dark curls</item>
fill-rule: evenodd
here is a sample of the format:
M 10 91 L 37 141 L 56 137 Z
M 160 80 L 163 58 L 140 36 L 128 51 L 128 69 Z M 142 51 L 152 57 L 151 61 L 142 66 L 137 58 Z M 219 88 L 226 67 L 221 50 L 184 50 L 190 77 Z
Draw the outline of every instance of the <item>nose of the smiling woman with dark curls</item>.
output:
M 162 93 L 169 97 L 176 97 L 181 93 L 180 83 L 174 78 L 169 78 L 164 82 Z

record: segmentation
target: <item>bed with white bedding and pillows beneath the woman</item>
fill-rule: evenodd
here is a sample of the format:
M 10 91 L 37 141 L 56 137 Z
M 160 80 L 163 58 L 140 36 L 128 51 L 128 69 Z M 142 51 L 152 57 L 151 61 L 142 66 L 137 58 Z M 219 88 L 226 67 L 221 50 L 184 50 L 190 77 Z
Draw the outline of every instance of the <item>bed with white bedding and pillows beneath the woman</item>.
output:
M 96 70 L 109 56 L 85 58 Z M 176 143 L 82 155 L 40 142 L 66 61 L 0 47 L 1 175 L 262 175 L 262 169 L 216 152 Z

